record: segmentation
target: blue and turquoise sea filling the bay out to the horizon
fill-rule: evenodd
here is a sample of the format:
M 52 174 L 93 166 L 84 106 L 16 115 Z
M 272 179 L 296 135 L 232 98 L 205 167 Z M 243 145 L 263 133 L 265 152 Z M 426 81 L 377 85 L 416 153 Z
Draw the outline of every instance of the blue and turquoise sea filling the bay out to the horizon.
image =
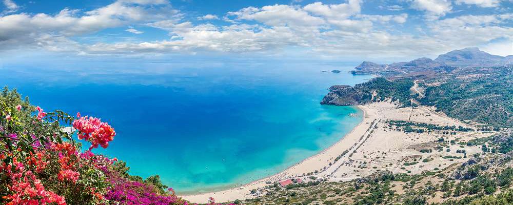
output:
M 101 65 L 4 65 L 0 79 L 46 110 L 108 121 L 117 136 L 96 152 L 181 194 L 260 179 L 331 146 L 362 113 L 320 100 L 331 85 L 370 78 L 339 64 Z M 333 69 L 343 72 L 322 72 Z

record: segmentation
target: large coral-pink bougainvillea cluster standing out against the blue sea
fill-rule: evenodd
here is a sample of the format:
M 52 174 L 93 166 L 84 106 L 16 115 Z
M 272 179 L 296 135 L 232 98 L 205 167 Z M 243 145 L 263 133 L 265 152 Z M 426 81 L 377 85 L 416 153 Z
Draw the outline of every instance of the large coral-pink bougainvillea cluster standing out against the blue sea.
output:
M 80 116 L 80 113 L 76 115 Z M 112 141 L 114 136 L 116 136 L 116 132 L 107 122 L 102 122 L 96 117 L 85 116 L 75 119 L 73 121 L 73 128 L 78 130 L 78 139 L 85 139 L 91 142 L 89 150 L 97 148 L 98 145 L 107 148 L 109 141 Z

